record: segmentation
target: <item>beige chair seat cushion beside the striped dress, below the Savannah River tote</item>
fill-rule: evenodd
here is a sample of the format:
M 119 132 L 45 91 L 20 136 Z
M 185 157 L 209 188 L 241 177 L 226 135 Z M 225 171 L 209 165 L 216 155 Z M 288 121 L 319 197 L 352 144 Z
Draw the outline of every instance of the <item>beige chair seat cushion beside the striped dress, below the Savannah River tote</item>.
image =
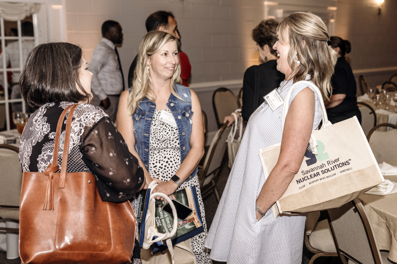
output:
M 330 224 L 328 224 L 327 219 L 318 222 L 316 226 L 314 226 L 314 229 L 309 236 L 309 243 L 319 251 L 336 252 Z

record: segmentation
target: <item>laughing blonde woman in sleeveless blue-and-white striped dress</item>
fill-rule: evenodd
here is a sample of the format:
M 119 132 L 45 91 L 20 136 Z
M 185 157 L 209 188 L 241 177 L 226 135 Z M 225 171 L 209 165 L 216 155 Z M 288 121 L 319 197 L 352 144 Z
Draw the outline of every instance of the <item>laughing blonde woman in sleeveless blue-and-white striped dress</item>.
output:
M 306 215 L 275 218 L 271 207 L 301 167 L 312 130 L 322 120 L 321 102 L 331 91 L 336 53 L 328 46 L 326 25 L 312 13 L 296 12 L 281 20 L 277 37 L 273 48 L 285 80 L 276 92 L 289 108 L 284 127 L 283 107 L 266 102 L 247 123 L 205 243 L 213 260 L 227 264 L 302 263 Z M 296 84 L 301 80 L 310 84 Z M 280 143 L 277 163 L 265 179 L 258 150 Z

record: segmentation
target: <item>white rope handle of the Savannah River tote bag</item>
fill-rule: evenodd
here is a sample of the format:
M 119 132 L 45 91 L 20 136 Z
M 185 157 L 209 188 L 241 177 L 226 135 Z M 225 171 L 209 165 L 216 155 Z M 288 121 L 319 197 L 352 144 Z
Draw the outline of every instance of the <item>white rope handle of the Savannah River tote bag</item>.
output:
M 324 101 L 322 100 L 322 94 L 321 94 L 320 89 L 318 89 L 318 87 L 315 84 L 311 83 L 311 82 L 299 81 L 299 82 L 296 82 L 295 84 L 293 84 L 291 86 L 291 88 L 289 88 L 288 93 L 285 96 L 284 105 L 283 105 L 283 114 L 282 114 L 282 117 L 283 117 L 283 119 L 282 119 L 282 129 L 284 130 L 285 117 L 287 116 L 287 112 L 288 112 L 288 108 L 289 108 L 289 104 L 288 104 L 289 103 L 289 99 L 291 98 L 291 94 L 292 94 L 292 91 L 293 91 L 294 87 L 296 85 L 298 85 L 298 84 L 307 84 L 308 86 L 312 87 L 314 89 L 314 91 L 317 93 L 318 98 L 320 99 L 320 106 L 321 106 L 321 112 L 322 112 L 322 122 L 323 122 L 323 124 L 321 126 L 321 129 L 323 129 L 325 127 L 329 127 L 330 125 L 332 125 L 332 123 L 328 120 L 327 112 L 326 112 L 326 109 L 325 109 Z M 312 135 L 310 135 L 309 143 L 310 143 L 310 148 L 311 148 L 313 154 L 317 155 L 318 154 L 318 152 L 317 152 L 317 140 L 316 140 L 316 137 L 314 137 L 313 133 L 312 133 Z

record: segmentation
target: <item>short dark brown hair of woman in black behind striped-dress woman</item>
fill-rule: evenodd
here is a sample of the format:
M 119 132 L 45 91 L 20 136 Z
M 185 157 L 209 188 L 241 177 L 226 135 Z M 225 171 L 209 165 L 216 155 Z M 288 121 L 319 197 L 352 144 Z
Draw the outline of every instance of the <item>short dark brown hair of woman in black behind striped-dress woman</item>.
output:
M 270 53 L 277 56 L 277 51 L 273 49 L 273 45 L 277 41 L 276 30 L 278 22 L 272 18 L 262 20 L 252 30 L 252 39 L 258 43 L 259 47 L 263 49 L 263 46 L 268 45 L 270 47 Z

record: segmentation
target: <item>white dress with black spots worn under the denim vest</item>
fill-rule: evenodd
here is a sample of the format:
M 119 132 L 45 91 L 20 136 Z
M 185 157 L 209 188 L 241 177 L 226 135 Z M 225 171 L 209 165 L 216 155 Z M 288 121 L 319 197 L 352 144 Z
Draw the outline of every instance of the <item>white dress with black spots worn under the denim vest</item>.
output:
M 161 111 L 162 110 L 156 110 L 154 112 L 152 124 L 150 126 L 149 175 L 153 178 L 168 181 L 181 165 L 181 150 L 179 147 L 178 128 L 160 122 L 158 118 L 160 117 Z M 166 111 L 171 112 L 169 109 Z M 192 251 L 196 255 L 197 263 L 212 263 L 209 250 L 204 248 L 204 242 L 207 237 L 207 224 L 205 221 L 204 204 L 201 198 L 197 175 L 192 177 L 188 182 L 183 182 L 181 187 L 177 190 L 191 185 L 196 186 L 198 204 L 200 206 L 202 223 L 204 225 L 204 233 L 191 238 Z

